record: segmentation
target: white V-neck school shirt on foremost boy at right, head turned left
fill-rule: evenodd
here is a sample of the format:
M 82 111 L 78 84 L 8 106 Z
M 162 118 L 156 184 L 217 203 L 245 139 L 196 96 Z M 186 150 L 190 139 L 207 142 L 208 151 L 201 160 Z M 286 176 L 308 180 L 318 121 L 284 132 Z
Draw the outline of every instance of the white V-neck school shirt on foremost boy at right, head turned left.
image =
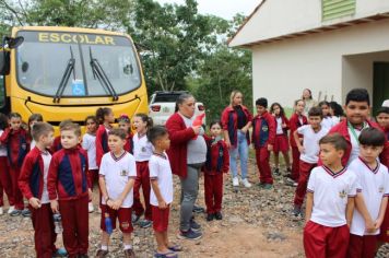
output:
M 310 220 L 325 226 L 342 226 L 346 224 L 347 199 L 356 195 L 356 175 L 345 167 L 334 173 L 318 166 L 310 173 L 307 191 L 314 195 Z

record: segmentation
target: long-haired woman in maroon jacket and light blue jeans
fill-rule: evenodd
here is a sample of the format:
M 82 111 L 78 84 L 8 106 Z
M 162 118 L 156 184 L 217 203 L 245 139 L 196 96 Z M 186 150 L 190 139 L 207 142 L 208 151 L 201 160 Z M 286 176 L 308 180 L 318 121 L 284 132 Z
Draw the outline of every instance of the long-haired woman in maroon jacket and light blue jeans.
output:
M 243 94 L 233 91 L 229 105 L 222 113 L 224 140 L 229 148 L 229 167 L 233 173 L 233 186 L 239 186 L 237 159 L 240 157 L 241 183 L 251 187 L 247 179 L 248 145 L 250 143 L 248 129 L 251 126 L 252 115 L 243 104 Z

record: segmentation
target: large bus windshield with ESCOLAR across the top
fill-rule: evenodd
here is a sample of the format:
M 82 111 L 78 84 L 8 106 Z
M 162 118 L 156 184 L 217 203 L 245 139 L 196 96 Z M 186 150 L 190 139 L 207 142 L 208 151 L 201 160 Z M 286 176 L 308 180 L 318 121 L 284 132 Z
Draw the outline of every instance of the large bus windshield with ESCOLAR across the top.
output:
M 31 31 L 17 36 L 24 37 L 16 49 L 17 82 L 30 92 L 55 96 L 70 60 L 74 62 L 64 80 L 63 97 L 111 96 L 91 59 L 97 60 L 117 95 L 141 85 L 137 55 L 125 36 Z

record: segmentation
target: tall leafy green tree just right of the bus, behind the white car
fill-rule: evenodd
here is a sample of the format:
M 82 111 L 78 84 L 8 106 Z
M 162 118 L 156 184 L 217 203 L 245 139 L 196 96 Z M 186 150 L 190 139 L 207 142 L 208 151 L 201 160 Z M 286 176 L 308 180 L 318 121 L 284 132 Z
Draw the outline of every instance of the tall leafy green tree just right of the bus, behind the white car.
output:
M 186 89 L 186 77 L 215 44 L 210 20 L 198 14 L 196 0 L 182 5 L 137 1 L 128 33 L 140 46 L 149 92 Z

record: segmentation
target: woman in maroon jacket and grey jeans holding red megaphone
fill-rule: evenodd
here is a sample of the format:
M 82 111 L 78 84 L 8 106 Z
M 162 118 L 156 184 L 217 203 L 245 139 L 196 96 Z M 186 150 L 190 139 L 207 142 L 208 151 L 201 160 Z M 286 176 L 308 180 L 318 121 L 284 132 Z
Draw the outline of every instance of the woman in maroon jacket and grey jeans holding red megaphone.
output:
M 200 225 L 192 219 L 192 209 L 199 190 L 200 168 L 207 159 L 207 143 L 201 126 L 194 120 L 194 97 L 181 94 L 176 102 L 176 113 L 166 121 L 170 149 L 167 154 L 173 174 L 181 183 L 180 238 L 198 239 L 202 236 Z

